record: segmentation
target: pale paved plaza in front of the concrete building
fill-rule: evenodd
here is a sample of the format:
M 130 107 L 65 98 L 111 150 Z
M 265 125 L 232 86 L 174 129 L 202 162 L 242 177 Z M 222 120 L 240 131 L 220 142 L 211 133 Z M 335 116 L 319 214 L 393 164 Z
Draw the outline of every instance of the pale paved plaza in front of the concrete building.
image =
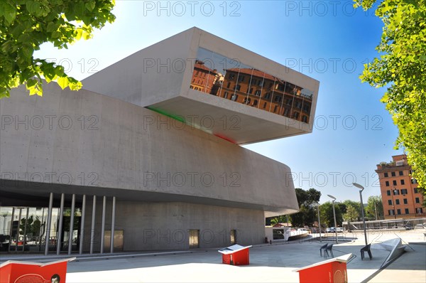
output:
M 334 243 L 334 257 L 348 253 L 356 255 L 347 265 L 349 282 L 426 282 L 426 245 L 422 231 L 368 233 L 368 242 L 373 242 L 373 260 L 368 256 L 361 260 L 362 233 L 339 236 L 349 241 Z M 354 236 L 356 238 L 351 240 Z M 406 252 L 381 270 L 390 252 L 378 249 L 379 243 L 395 237 L 400 237 L 407 245 Z M 332 243 L 332 240 L 257 245 L 250 249 L 250 265 L 241 267 L 223 265 L 217 249 L 85 255 L 68 264 L 67 282 L 299 282 L 294 270 L 325 260 L 320 256 L 320 246 L 324 242 Z M 18 260 L 17 257 L 4 256 L 1 261 Z M 37 258 L 43 259 L 40 255 L 27 255 L 25 260 Z M 21 260 L 24 259 L 21 257 Z

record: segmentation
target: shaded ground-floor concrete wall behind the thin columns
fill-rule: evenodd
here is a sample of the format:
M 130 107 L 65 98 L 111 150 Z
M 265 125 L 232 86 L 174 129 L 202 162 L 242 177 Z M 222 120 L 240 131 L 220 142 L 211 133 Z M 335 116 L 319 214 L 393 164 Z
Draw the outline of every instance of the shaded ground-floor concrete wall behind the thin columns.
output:
M 107 202 L 105 229 L 111 229 L 111 201 Z M 102 202 L 97 202 L 94 251 L 100 250 Z M 89 251 L 92 202 L 87 205 L 84 250 Z M 124 251 L 186 250 L 190 229 L 200 230 L 200 248 L 231 245 L 230 230 L 236 230 L 240 245 L 263 242 L 261 210 L 224 208 L 193 203 L 143 203 L 117 201 L 116 230 L 124 230 Z M 109 243 L 108 243 L 109 244 Z M 105 249 L 104 252 L 109 252 Z

